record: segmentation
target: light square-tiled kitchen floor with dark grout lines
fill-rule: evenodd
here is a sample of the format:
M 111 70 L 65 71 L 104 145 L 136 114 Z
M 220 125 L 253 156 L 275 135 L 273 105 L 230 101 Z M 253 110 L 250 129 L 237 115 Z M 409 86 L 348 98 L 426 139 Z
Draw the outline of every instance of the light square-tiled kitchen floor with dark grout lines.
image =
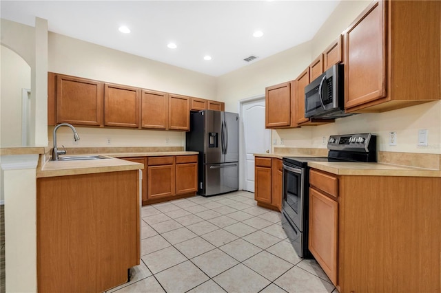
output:
M 254 193 L 177 199 L 145 206 L 141 217 L 141 264 L 108 292 L 337 292 Z

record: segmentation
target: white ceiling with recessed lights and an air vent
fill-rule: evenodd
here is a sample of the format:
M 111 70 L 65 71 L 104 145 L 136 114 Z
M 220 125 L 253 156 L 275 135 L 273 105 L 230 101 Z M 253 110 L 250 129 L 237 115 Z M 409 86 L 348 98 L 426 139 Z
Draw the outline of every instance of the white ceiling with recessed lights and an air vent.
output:
M 40 17 L 50 32 L 220 76 L 311 40 L 339 1 L 1 0 L 0 10 L 2 19 L 34 26 Z M 250 55 L 259 58 L 243 61 Z

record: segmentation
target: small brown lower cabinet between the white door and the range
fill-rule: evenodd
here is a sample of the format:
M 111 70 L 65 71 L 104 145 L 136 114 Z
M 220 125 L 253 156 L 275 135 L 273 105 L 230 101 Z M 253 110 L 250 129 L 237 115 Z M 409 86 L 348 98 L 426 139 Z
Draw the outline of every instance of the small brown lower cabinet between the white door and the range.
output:
M 282 160 L 256 157 L 254 199 L 258 206 L 282 210 Z

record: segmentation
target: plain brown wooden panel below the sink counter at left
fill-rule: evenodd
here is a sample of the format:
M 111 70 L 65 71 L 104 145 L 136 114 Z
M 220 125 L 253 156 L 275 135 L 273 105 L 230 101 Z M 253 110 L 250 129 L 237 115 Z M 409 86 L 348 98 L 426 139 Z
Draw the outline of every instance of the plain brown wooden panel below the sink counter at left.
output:
M 39 292 L 103 292 L 139 265 L 139 171 L 37 178 Z

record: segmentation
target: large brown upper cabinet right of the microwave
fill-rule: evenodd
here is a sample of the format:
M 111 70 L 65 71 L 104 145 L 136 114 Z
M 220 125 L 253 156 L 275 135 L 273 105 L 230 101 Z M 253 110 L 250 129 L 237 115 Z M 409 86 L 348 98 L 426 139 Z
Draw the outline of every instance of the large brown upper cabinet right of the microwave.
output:
M 345 109 L 439 100 L 441 1 L 373 1 L 344 33 Z

